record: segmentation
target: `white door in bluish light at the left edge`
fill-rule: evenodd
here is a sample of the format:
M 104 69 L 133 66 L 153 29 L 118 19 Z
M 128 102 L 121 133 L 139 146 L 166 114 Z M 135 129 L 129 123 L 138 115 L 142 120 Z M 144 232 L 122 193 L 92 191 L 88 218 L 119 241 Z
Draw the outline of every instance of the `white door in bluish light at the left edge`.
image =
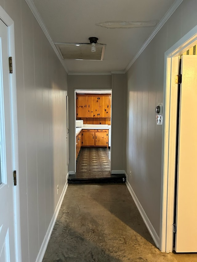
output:
M 16 261 L 8 54 L 8 27 L 0 20 L 0 262 Z

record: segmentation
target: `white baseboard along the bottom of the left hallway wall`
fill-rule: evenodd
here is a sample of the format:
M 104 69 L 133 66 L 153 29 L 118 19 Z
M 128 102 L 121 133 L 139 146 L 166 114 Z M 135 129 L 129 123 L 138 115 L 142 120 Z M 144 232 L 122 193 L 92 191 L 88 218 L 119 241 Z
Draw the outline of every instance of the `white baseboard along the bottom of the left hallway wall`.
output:
M 50 239 L 51 233 L 52 233 L 52 231 L 53 231 L 53 228 L 54 228 L 56 219 L 57 219 L 57 217 L 58 217 L 59 209 L 60 209 L 60 207 L 61 207 L 61 205 L 62 205 L 62 201 L 63 201 L 64 196 L 65 196 L 65 194 L 66 194 L 66 190 L 67 190 L 67 187 L 68 187 L 68 176 L 69 176 L 69 173 L 66 175 L 66 183 L 65 183 L 65 185 L 64 185 L 64 189 L 63 189 L 62 194 L 61 194 L 61 196 L 60 196 L 60 198 L 59 198 L 59 201 L 58 201 L 58 204 L 57 204 L 57 206 L 56 206 L 54 215 L 53 215 L 53 217 L 52 217 L 52 219 L 51 219 L 51 221 L 50 221 L 50 225 L 49 225 L 49 227 L 48 227 L 48 230 L 47 230 L 47 232 L 46 232 L 45 238 L 44 238 L 44 240 L 43 240 L 43 242 L 42 242 L 42 245 L 41 245 L 41 247 L 40 247 L 40 251 L 39 251 L 39 253 L 38 253 L 36 262 L 42 262 L 42 259 L 43 259 L 43 257 L 44 257 L 44 254 L 45 254 L 45 252 L 46 252 L 46 248 L 47 248 L 47 245 L 48 245 L 48 243 L 49 243 L 49 239 Z

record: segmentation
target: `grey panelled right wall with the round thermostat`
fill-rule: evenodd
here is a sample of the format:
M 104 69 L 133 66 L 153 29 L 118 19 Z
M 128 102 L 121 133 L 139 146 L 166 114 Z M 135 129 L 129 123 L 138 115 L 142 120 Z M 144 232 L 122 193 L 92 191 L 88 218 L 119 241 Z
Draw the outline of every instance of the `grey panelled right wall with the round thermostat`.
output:
M 126 74 L 125 168 L 158 236 L 162 126 L 155 125 L 155 107 L 163 102 L 164 53 L 197 24 L 196 14 L 195 0 L 183 1 Z

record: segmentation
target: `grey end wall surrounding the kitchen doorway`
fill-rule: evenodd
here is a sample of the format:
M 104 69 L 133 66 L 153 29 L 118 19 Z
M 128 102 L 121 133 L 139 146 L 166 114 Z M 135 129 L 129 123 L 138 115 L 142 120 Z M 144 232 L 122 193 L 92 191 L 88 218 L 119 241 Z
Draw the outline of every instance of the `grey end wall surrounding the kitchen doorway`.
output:
M 124 74 L 111 75 L 69 75 L 69 171 L 74 171 L 74 151 L 76 148 L 74 130 L 74 90 L 75 89 L 112 89 L 112 170 L 124 169 L 124 102 L 125 76 Z

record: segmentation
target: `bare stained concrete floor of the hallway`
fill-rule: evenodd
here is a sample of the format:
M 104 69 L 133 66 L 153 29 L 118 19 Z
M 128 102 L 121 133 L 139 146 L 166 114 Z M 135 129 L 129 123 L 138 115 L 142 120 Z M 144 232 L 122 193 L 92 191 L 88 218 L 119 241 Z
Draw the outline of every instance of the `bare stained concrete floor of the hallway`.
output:
M 162 253 L 125 184 L 69 185 L 43 262 L 197 262 Z

